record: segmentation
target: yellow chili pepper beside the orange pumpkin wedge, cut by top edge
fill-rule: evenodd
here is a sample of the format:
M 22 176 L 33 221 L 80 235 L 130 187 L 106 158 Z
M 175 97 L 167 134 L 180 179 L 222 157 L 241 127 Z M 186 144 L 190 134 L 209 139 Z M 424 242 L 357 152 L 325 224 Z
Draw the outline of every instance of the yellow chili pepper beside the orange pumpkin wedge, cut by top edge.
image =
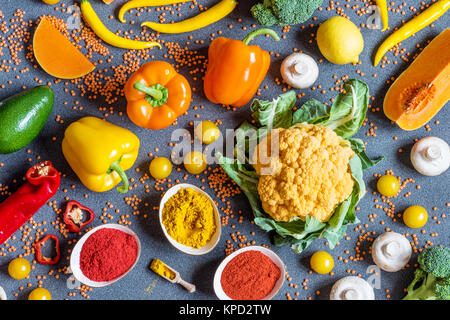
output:
M 83 13 L 83 17 L 87 24 L 91 27 L 95 34 L 112 46 L 124 49 L 147 49 L 156 46 L 161 49 L 161 45 L 158 42 L 126 39 L 109 31 L 99 19 L 94 9 L 92 9 L 92 6 L 88 0 L 81 0 L 81 12 Z

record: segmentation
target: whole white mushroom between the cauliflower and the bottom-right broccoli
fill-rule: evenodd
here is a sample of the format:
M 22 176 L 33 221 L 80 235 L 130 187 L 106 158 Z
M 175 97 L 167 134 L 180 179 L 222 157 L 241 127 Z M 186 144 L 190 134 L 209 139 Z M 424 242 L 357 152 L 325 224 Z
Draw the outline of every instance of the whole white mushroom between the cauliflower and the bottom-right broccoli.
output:
M 372 244 L 372 258 L 380 269 L 397 272 L 411 258 L 411 244 L 399 233 L 385 232 Z

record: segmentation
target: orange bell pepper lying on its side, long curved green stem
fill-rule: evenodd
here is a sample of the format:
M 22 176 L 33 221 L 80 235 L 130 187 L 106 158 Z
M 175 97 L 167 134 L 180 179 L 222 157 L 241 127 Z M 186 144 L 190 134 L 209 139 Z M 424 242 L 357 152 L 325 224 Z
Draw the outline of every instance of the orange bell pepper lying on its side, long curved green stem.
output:
M 258 29 L 242 41 L 216 38 L 208 50 L 204 91 L 209 101 L 242 107 L 255 95 L 270 67 L 270 55 L 248 43 L 257 35 L 268 34 L 280 40 L 271 29 Z

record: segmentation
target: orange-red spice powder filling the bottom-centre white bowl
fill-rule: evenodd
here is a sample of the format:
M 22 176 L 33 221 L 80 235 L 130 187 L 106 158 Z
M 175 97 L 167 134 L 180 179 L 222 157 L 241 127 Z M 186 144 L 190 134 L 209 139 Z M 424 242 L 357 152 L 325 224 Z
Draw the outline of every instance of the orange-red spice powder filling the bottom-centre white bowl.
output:
M 220 283 L 226 295 L 234 300 L 260 300 L 272 291 L 280 275 L 281 270 L 272 259 L 249 250 L 225 266 Z

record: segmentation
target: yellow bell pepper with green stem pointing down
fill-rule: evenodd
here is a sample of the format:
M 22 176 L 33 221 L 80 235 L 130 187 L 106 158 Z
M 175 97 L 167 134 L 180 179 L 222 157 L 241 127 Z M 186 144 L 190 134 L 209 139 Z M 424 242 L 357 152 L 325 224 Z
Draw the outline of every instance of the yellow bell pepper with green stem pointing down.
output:
M 128 191 L 125 170 L 130 169 L 139 152 L 139 139 L 131 131 L 95 117 L 71 123 L 62 142 L 64 157 L 86 188 L 104 192 L 118 187 Z

